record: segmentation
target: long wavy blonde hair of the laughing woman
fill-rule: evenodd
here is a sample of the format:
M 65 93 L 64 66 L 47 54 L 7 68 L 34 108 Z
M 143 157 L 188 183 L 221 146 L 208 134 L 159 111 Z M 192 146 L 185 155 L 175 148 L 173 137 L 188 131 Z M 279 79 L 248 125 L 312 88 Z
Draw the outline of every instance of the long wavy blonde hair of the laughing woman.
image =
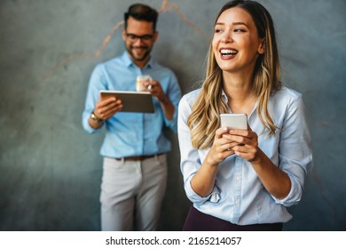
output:
M 254 69 L 253 91 L 258 100 L 257 115 L 264 129 L 273 135 L 277 127 L 271 119 L 268 111 L 268 101 L 271 93 L 281 87 L 279 81 L 279 52 L 276 44 L 275 29 L 271 14 L 255 1 L 235 0 L 220 10 L 216 17 L 227 9 L 240 7 L 247 11 L 255 21 L 258 36 L 264 38 L 265 52 L 258 54 Z M 207 55 L 206 78 L 201 86 L 201 93 L 196 98 L 187 124 L 191 131 L 193 147 L 207 149 L 214 141 L 216 130 L 220 127 L 220 114 L 227 113 L 227 104 L 222 100 L 223 74 L 222 69 L 216 63 L 215 55 L 210 44 Z

